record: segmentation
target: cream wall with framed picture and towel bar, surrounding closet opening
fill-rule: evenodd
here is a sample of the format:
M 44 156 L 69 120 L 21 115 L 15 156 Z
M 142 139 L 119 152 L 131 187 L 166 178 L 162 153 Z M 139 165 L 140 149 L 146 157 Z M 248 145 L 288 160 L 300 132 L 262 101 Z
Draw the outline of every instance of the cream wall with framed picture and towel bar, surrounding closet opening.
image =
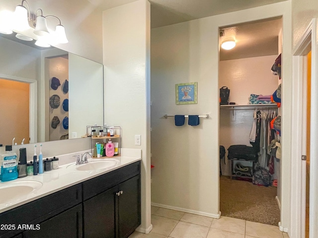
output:
M 291 77 L 290 2 L 152 29 L 152 201 L 208 216 L 219 215 L 219 27 L 283 15 L 283 75 Z M 175 105 L 176 83 L 198 82 L 197 105 Z M 291 84 L 283 100 L 291 101 Z M 285 104 L 285 112 L 291 107 Z M 164 114 L 210 114 L 198 127 L 176 127 Z M 284 111 L 283 111 L 284 115 Z M 290 115 L 283 118 L 283 156 L 290 155 Z M 285 143 L 286 141 L 286 143 Z M 283 228 L 289 227 L 289 168 L 284 163 Z M 177 195 L 176 195 L 177 194 Z M 182 199 L 181 199 L 182 198 Z

